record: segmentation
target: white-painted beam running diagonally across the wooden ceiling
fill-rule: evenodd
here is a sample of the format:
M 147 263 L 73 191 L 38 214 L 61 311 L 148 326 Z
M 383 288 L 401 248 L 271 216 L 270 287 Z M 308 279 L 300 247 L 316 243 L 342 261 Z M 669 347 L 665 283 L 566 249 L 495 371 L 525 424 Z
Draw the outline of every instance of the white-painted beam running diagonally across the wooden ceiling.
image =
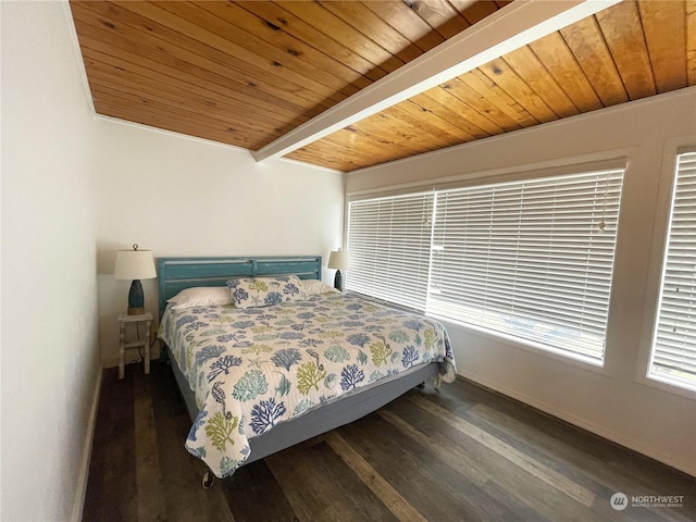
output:
M 251 154 L 257 162 L 288 154 L 620 1 L 511 2 Z

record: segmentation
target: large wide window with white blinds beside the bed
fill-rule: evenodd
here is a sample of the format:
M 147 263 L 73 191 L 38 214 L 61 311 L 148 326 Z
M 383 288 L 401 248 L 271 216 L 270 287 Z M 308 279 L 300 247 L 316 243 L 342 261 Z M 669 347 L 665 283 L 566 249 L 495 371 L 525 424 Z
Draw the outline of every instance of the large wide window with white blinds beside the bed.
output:
M 609 170 L 420 195 L 432 202 L 411 213 L 412 225 L 399 221 L 409 239 L 399 236 L 405 248 L 388 263 L 376 253 L 377 245 L 394 248 L 397 225 L 387 225 L 386 209 L 408 198 L 351 202 L 347 288 L 396 302 L 419 288 L 411 302 L 428 314 L 601 363 L 622 175 Z M 378 219 L 376 210 L 359 213 L 374 206 L 384 209 Z M 375 253 L 366 256 L 365 246 Z M 375 291 L 372 282 L 403 261 L 410 268 L 397 284 Z

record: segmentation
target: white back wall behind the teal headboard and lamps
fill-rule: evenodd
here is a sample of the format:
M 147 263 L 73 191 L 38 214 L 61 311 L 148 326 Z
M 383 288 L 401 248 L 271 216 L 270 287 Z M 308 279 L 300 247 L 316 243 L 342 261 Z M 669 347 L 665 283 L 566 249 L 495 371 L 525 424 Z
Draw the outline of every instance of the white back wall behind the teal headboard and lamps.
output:
M 344 175 L 111 119 L 97 121 L 99 318 L 102 358 L 117 364 L 116 318 L 129 282 L 115 251 L 137 243 L 170 256 L 324 258 L 343 237 Z M 156 279 L 142 282 L 157 315 Z

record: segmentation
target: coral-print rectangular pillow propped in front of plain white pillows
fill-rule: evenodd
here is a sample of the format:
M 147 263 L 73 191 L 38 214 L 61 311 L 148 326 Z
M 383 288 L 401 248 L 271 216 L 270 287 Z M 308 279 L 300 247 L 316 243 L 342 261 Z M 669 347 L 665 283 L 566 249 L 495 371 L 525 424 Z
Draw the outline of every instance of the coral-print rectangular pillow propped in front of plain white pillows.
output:
M 296 275 L 245 277 L 227 281 L 232 301 L 237 308 L 256 308 L 299 299 L 300 279 Z

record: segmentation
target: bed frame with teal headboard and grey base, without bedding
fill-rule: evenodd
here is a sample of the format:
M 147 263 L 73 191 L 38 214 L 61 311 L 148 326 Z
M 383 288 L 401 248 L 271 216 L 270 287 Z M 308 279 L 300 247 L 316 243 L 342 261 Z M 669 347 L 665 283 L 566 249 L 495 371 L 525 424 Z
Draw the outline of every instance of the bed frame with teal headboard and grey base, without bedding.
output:
M 261 257 L 261 258 L 160 258 L 158 259 L 158 287 L 160 319 L 166 300 L 184 288 L 194 286 L 225 286 L 231 277 L 256 277 L 295 274 L 303 279 L 321 279 L 322 258 Z M 198 415 L 194 391 L 188 380 L 165 349 L 186 402 L 191 421 Z M 369 389 L 341 396 L 296 419 L 279 423 L 273 430 L 249 439 L 251 455 L 245 464 L 289 448 L 298 443 L 339 427 L 371 413 L 409 389 L 434 377 L 439 364 L 434 362 L 400 374 L 399 378 L 377 383 Z M 203 485 L 212 484 L 212 473 L 203 477 Z

